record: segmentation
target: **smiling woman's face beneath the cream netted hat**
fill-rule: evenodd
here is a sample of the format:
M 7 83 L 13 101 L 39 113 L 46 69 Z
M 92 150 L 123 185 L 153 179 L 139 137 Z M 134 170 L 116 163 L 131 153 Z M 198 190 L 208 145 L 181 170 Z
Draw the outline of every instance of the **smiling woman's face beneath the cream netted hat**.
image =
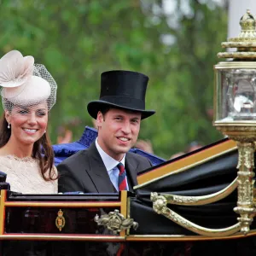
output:
M 15 106 L 12 112 L 5 112 L 5 118 L 10 124 L 11 139 L 15 142 L 32 144 L 44 135 L 48 123 L 48 108 L 46 103 L 31 107 Z

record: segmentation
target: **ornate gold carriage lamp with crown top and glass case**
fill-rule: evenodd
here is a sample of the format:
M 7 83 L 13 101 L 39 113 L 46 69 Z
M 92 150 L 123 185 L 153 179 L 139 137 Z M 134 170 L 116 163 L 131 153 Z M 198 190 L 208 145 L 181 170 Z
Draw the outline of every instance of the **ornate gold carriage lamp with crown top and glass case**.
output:
M 226 58 L 214 66 L 213 125 L 236 141 L 238 148 L 238 200 L 241 232 L 247 234 L 253 222 L 253 168 L 256 141 L 256 17 L 249 10 L 241 17 L 237 38 L 222 43 L 234 51 L 218 53 Z

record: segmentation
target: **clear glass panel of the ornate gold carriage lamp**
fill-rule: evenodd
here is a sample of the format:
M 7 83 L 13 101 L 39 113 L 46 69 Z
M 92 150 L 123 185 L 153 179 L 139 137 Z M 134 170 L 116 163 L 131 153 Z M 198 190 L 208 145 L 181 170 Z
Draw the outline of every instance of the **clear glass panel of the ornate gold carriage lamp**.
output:
M 256 122 L 256 69 L 216 73 L 215 122 Z

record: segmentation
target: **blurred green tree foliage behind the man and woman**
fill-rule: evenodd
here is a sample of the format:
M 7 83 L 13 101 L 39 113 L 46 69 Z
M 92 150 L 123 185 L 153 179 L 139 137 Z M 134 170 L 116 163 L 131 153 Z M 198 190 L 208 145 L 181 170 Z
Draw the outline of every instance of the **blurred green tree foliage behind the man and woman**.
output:
M 166 15 L 161 1 L 2 0 L 0 54 L 19 49 L 43 63 L 58 84 L 50 135 L 69 124 L 73 140 L 92 126 L 87 103 L 97 99 L 100 74 L 128 69 L 148 74 L 147 108 L 140 136 L 154 154 L 169 158 L 189 142 L 212 143 L 222 136 L 207 109 L 213 102 L 213 69 L 226 39 L 226 10 L 214 1 L 176 2 Z M 170 18 L 177 17 L 170 26 Z M 172 38 L 165 44 L 163 38 Z

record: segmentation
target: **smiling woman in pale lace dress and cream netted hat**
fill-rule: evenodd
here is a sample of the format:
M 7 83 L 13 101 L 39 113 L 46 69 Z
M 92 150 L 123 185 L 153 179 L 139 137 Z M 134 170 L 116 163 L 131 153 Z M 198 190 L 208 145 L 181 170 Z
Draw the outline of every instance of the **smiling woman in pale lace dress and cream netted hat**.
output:
M 57 192 L 54 154 L 47 134 L 49 109 L 57 84 L 44 65 L 12 50 L 0 59 L 3 118 L 0 121 L 0 171 L 12 191 Z

